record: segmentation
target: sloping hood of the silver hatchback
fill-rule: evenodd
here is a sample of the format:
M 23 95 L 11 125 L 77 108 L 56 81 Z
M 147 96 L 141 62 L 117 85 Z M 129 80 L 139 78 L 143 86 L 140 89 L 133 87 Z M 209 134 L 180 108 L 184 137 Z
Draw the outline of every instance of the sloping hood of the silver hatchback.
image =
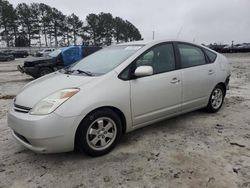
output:
M 76 88 L 87 84 L 97 77 L 67 75 L 60 72 L 41 77 L 24 86 L 16 96 L 15 104 L 32 108 L 40 100 L 52 93 L 66 88 Z

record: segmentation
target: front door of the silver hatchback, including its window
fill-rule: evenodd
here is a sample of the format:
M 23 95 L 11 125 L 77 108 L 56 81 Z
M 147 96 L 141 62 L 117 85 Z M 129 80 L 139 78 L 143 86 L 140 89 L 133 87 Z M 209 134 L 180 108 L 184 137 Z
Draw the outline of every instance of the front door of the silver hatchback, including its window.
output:
M 172 43 L 157 45 L 135 62 L 152 66 L 153 75 L 130 81 L 134 125 L 160 120 L 181 110 L 181 73 L 176 70 Z

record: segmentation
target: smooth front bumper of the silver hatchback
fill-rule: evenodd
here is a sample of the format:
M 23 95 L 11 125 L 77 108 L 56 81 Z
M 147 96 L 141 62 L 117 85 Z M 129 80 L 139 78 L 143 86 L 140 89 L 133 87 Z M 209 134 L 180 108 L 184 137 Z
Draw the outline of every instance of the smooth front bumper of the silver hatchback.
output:
M 59 153 L 74 150 L 77 117 L 62 117 L 56 113 L 44 116 L 8 112 L 8 125 L 13 137 L 23 146 L 38 153 Z

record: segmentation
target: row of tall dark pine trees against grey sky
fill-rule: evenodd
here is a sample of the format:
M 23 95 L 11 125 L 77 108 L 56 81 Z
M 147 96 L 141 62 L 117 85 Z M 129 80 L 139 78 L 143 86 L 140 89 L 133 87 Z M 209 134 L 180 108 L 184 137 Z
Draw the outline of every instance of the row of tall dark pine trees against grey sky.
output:
M 0 36 L 7 46 L 83 44 L 110 45 L 141 40 L 140 31 L 129 21 L 110 13 L 89 14 L 83 22 L 74 13 L 67 16 L 43 3 L 20 3 L 13 7 L 0 0 Z

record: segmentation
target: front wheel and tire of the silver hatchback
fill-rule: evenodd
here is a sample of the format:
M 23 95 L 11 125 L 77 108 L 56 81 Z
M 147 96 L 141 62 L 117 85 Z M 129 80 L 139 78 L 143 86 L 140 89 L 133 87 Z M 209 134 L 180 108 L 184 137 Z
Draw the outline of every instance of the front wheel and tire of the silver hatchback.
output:
M 83 119 L 76 132 L 75 147 L 93 157 L 105 155 L 116 146 L 121 135 L 120 117 L 111 109 L 103 108 Z

